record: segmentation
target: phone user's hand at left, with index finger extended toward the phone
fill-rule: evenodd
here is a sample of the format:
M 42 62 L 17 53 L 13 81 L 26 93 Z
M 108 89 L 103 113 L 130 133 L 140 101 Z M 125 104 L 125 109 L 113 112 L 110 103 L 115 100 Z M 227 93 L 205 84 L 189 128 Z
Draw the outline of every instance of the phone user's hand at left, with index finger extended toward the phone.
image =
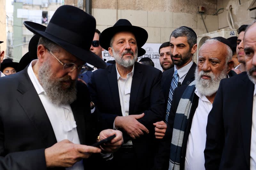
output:
M 81 159 L 89 158 L 92 153 L 100 152 L 100 148 L 73 144 L 66 139 L 44 150 L 47 167 L 71 167 Z

